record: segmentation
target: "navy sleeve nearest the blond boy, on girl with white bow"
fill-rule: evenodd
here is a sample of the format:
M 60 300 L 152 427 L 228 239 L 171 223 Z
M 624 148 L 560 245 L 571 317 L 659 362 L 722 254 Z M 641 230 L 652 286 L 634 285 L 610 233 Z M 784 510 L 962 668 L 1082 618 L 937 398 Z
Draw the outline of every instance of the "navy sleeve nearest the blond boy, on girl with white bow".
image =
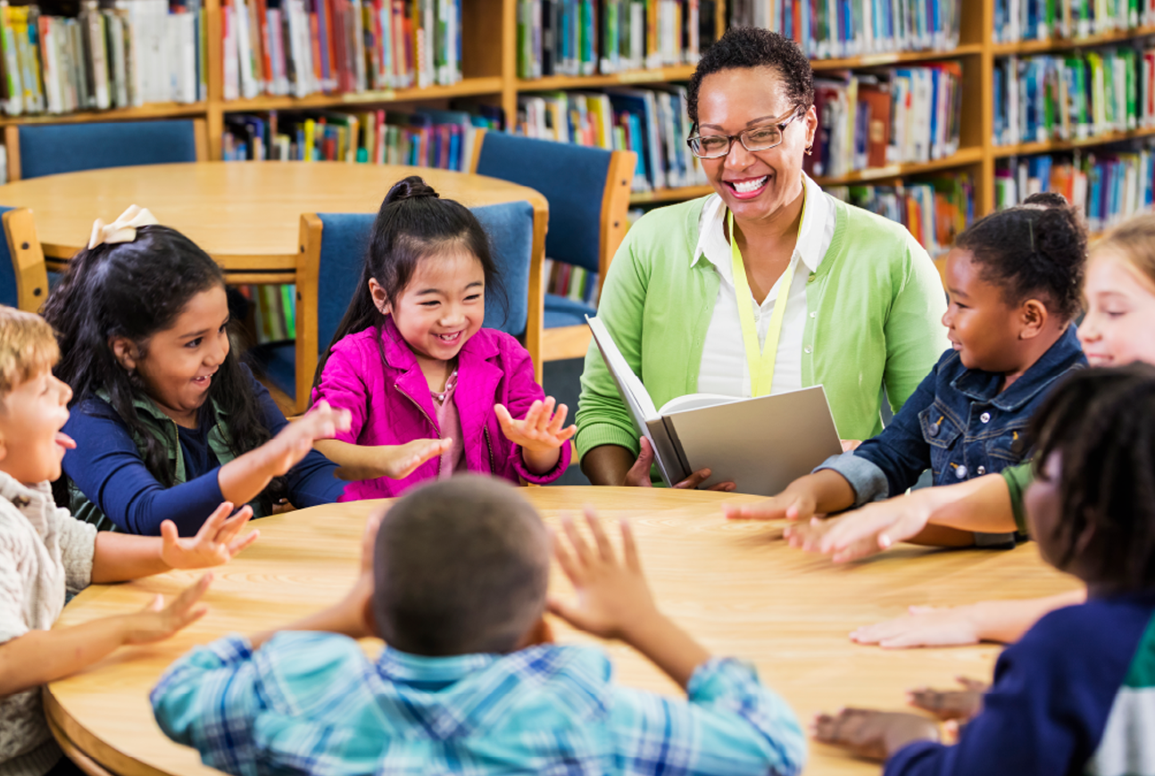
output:
M 173 487 L 157 482 L 128 426 L 98 398 L 76 404 L 64 431 L 76 440 L 65 473 L 122 531 L 159 536 L 161 523 L 171 520 L 181 536 L 192 536 L 224 501 L 217 469 Z

